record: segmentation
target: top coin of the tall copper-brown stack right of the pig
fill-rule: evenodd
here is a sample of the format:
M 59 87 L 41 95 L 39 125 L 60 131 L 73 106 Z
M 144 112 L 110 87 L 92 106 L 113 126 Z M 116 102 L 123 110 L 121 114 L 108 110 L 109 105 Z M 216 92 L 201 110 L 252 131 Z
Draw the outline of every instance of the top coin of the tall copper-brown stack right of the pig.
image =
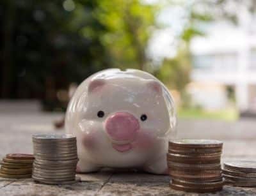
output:
M 169 146 L 178 147 L 195 147 L 195 148 L 207 148 L 207 147 L 222 147 L 223 142 L 219 140 L 208 140 L 208 139 L 179 139 L 169 142 Z

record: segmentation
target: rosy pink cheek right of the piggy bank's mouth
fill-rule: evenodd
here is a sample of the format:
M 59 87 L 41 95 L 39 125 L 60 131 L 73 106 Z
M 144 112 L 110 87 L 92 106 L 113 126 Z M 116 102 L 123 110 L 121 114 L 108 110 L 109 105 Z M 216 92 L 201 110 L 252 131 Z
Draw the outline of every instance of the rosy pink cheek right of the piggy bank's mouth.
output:
M 136 147 L 138 150 L 146 150 L 148 147 L 152 146 L 154 142 L 156 142 L 154 136 L 147 133 L 147 130 L 143 130 L 138 133 L 133 147 Z

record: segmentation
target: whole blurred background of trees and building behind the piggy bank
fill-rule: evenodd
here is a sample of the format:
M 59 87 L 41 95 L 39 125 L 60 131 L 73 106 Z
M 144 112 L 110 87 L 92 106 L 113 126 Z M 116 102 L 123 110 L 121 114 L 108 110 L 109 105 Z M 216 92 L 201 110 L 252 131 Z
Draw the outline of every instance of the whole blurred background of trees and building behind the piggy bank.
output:
M 152 73 L 178 116 L 256 116 L 256 1 L 2 0 L 0 110 L 64 112 L 106 68 Z

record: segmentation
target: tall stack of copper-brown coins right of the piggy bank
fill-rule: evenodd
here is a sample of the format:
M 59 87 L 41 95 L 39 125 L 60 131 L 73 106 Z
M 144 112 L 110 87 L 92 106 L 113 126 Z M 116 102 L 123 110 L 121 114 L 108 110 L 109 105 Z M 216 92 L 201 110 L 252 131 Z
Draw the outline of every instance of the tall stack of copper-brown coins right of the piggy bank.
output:
M 173 140 L 167 155 L 170 187 L 185 192 L 207 193 L 222 190 L 221 152 L 217 140 Z

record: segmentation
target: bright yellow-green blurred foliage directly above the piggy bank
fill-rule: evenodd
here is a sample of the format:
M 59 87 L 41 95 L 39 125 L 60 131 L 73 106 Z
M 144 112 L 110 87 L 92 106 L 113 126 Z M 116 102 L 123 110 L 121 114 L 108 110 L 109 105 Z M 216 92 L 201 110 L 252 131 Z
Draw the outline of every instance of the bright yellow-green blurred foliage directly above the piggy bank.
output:
M 154 25 L 153 6 L 140 0 L 100 0 L 95 17 L 108 30 L 102 35 L 102 44 L 108 49 L 118 68 L 145 69 L 145 48 Z

